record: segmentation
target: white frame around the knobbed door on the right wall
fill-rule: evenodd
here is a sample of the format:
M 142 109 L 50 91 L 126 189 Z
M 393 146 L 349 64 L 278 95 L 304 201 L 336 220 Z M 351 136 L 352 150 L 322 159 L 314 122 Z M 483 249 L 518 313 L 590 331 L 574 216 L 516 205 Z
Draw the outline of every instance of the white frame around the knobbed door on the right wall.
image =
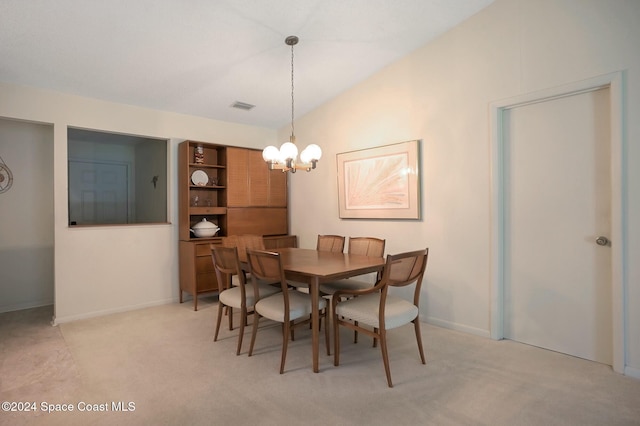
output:
M 626 223 L 626 141 L 624 139 L 623 71 L 491 102 L 491 338 L 504 338 L 504 134 L 506 110 L 566 96 L 609 89 L 611 114 L 611 312 L 613 370 L 624 374 L 626 367 L 627 223 Z

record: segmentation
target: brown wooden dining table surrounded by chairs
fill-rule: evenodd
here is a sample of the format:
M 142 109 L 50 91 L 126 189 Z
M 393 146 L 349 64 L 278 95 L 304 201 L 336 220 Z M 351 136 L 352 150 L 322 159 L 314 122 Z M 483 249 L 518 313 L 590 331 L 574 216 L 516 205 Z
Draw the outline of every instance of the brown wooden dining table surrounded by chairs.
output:
M 307 283 L 312 300 L 312 358 L 313 371 L 318 372 L 319 321 L 318 302 L 320 284 L 357 275 L 381 271 L 385 260 L 382 257 L 359 256 L 348 253 L 334 253 L 302 248 L 280 248 L 287 280 Z M 325 324 L 327 327 L 328 324 Z

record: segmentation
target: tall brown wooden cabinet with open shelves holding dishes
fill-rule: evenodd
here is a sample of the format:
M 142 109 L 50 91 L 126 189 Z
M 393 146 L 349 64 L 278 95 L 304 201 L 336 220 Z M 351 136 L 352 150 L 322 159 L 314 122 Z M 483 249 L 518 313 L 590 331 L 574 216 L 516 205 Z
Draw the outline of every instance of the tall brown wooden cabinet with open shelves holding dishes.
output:
M 287 173 L 269 170 L 259 150 L 182 142 L 178 201 L 180 302 L 183 293 L 192 295 L 194 310 L 198 295 L 218 291 L 211 244 L 221 244 L 221 237 L 277 236 L 265 238 L 265 245 L 297 245 L 295 236 L 285 235 L 289 231 Z M 196 238 L 190 232 L 204 218 L 220 227 L 215 237 Z

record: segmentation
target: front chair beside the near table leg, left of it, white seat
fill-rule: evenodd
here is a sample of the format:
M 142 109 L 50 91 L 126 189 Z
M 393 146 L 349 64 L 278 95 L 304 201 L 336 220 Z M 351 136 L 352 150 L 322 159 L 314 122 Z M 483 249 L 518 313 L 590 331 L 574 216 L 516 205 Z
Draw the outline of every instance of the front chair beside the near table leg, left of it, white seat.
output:
M 287 358 L 289 334 L 294 328 L 309 322 L 313 306 L 311 296 L 289 288 L 285 278 L 282 258 L 279 253 L 247 250 L 247 257 L 251 279 L 256 288 L 258 280 L 264 280 L 269 282 L 277 281 L 280 283 L 282 289 L 279 293 L 261 298 L 254 306 L 255 315 L 253 318 L 249 356 L 253 354 L 260 317 L 282 323 L 282 356 L 280 360 L 280 374 L 282 374 Z M 322 318 L 326 319 L 327 317 L 327 301 L 323 297 L 318 299 L 318 311 L 321 313 L 320 321 L 322 321 Z M 304 318 L 304 320 L 300 321 L 301 318 Z M 327 346 L 327 355 L 329 355 L 329 329 L 326 324 L 325 344 Z

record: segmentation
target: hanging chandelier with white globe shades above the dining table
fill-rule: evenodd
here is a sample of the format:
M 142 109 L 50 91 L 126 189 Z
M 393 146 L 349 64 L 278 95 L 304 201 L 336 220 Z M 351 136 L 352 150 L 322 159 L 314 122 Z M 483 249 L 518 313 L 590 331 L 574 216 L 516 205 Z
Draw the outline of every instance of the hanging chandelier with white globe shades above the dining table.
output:
M 298 37 L 289 36 L 284 42 L 291 46 L 291 136 L 289 142 L 285 142 L 280 149 L 271 145 L 262 151 L 262 158 L 269 166 L 269 170 L 282 170 L 283 172 L 295 173 L 296 170 L 311 171 L 316 168 L 316 163 L 322 157 L 322 149 L 316 144 L 307 146 L 300 153 L 300 163 L 298 159 L 298 147 L 296 146 L 296 137 L 293 128 L 293 46 L 298 44 Z

